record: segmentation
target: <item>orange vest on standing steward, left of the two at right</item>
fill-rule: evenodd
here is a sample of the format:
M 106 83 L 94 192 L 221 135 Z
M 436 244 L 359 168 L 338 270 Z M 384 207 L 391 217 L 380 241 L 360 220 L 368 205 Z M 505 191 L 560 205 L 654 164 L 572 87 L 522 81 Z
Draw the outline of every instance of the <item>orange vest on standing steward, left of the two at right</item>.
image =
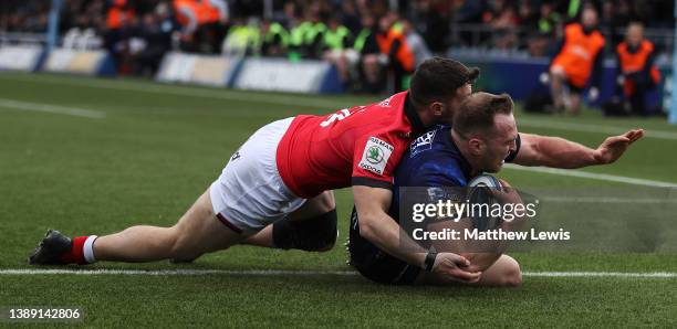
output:
M 564 35 L 564 46 L 555 56 L 552 66 L 564 68 L 571 84 L 583 88 L 592 74 L 595 56 L 604 47 L 604 36 L 600 31 L 586 35 L 579 23 L 566 25 Z

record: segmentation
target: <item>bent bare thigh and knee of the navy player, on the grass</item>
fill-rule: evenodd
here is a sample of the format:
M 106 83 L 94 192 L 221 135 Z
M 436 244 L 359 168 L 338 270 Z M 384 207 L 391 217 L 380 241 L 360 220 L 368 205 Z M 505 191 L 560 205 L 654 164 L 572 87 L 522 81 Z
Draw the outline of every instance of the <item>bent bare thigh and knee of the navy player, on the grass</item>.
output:
M 522 284 L 522 272 L 520 264 L 514 258 L 503 254 L 489 268 L 482 272 L 479 282 L 473 284 L 459 283 L 448 276 L 430 272 L 421 272 L 416 283 L 437 286 L 514 287 Z

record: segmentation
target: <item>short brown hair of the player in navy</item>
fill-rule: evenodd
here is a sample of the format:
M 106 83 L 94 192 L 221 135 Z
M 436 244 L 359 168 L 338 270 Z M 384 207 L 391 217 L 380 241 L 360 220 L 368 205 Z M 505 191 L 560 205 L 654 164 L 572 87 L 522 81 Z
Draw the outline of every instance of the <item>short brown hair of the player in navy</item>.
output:
M 513 107 L 508 94 L 475 93 L 454 113 L 454 130 L 464 138 L 480 130 L 489 130 L 493 127 L 497 114 L 512 114 Z

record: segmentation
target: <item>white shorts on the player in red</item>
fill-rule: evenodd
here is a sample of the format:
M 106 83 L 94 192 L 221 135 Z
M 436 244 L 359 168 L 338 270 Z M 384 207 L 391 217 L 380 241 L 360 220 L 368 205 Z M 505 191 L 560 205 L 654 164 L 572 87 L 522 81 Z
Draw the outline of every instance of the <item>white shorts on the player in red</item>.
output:
M 275 160 L 278 145 L 292 120 L 278 120 L 257 130 L 211 183 L 213 212 L 233 231 L 253 234 L 306 201 L 284 184 Z

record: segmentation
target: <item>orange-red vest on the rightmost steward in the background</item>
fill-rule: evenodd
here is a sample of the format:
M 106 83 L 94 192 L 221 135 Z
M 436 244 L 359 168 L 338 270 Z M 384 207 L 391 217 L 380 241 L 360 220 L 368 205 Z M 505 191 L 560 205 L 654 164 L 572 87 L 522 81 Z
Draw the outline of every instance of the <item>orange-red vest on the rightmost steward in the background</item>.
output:
M 616 46 L 618 70 L 623 74 L 623 92 L 625 96 L 635 93 L 637 84 L 657 85 L 660 82 L 660 72 L 654 64 L 654 44 L 643 40 L 639 46 L 633 47 L 627 42 Z

